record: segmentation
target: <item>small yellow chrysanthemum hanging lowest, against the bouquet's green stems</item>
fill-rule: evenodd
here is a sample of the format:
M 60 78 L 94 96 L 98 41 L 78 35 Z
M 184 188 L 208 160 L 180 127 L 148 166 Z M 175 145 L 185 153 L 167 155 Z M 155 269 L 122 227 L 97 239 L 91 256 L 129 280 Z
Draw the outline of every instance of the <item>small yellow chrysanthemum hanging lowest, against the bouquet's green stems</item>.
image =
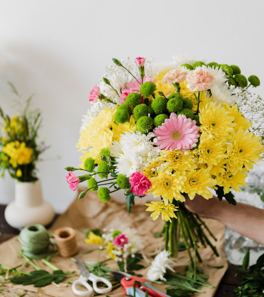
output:
M 153 221 L 155 221 L 160 213 L 161 213 L 161 218 L 163 220 L 170 221 L 170 218 L 176 218 L 176 214 L 174 213 L 174 211 L 177 211 L 178 206 L 175 206 L 172 203 L 168 203 L 167 205 L 165 205 L 165 203 L 163 201 L 151 201 L 151 203 L 145 203 L 146 206 L 148 206 L 148 208 L 146 209 L 146 211 L 154 211 L 150 216 L 153 218 Z

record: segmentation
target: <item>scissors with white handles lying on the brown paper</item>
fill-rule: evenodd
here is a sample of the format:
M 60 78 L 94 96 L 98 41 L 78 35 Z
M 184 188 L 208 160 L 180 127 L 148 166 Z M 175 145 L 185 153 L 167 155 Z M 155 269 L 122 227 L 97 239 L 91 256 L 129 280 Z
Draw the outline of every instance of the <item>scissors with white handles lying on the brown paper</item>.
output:
M 72 284 L 72 291 L 74 294 L 78 296 L 88 296 L 91 295 L 92 293 L 96 292 L 98 294 L 105 294 L 109 293 L 113 286 L 111 282 L 109 282 L 108 279 L 105 279 L 104 277 L 97 277 L 93 273 L 90 273 L 88 269 L 85 267 L 81 259 L 76 259 L 77 260 L 77 265 L 80 269 L 80 277 L 76 281 L 73 282 Z M 88 280 L 93 282 L 93 286 L 88 284 Z M 105 285 L 107 285 L 107 288 L 98 288 L 97 283 L 98 282 L 103 282 Z M 86 287 L 87 291 L 80 291 L 77 289 L 77 285 L 83 285 Z

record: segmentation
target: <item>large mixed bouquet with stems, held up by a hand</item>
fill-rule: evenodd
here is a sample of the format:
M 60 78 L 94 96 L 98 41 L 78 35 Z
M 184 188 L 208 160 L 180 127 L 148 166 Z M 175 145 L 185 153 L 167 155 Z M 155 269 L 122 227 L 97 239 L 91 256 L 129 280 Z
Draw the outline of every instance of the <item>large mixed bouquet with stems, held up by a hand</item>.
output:
M 264 105 L 248 89 L 260 81 L 247 79 L 236 65 L 185 56 L 156 64 L 140 57 L 113 62 L 90 92 L 77 144 L 80 168 L 66 167 L 67 181 L 72 190 L 87 181 L 79 198 L 98 190 L 105 203 L 124 191 L 128 211 L 135 195 L 152 193 L 159 200 L 146 211 L 165 220 L 165 249 L 176 257 L 182 238 L 196 267 L 199 243 L 218 254 L 205 229 L 214 235 L 184 201 L 196 194 L 210 199 L 211 188 L 220 200 L 236 203 L 230 189 L 240 191 L 263 153 Z

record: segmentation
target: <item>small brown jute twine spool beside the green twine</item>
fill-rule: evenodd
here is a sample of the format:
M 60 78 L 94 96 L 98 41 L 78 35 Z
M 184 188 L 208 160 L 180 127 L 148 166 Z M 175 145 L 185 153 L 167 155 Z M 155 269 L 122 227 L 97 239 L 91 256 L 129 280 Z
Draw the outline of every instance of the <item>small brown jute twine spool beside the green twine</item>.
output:
M 74 229 L 70 227 L 59 228 L 54 232 L 54 238 L 61 257 L 67 258 L 77 253 L 78 246 Z

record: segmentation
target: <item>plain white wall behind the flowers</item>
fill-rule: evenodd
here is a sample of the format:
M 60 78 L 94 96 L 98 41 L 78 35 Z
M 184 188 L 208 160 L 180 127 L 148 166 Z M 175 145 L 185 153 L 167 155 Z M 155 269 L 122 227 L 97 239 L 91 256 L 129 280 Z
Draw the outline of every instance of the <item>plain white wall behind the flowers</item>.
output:
M 236 64 L 262 82 L 262 0 L 1 0 L 0 105 L 11 113 L 7 81 L 43 112 L 41 137 L 51 149 L 39 163 L 43 195 L 56 211 L 75 198 L 65 166 L 77 166 L 75 144 L 88 94 L 111 58 L 182 53 Z M 60 154 L 61 159 L 56 159 Z M 52 159 L 53 158 L 53 159 Z M 0 203 L 14 198 L 14 181 L 0 179 Z

